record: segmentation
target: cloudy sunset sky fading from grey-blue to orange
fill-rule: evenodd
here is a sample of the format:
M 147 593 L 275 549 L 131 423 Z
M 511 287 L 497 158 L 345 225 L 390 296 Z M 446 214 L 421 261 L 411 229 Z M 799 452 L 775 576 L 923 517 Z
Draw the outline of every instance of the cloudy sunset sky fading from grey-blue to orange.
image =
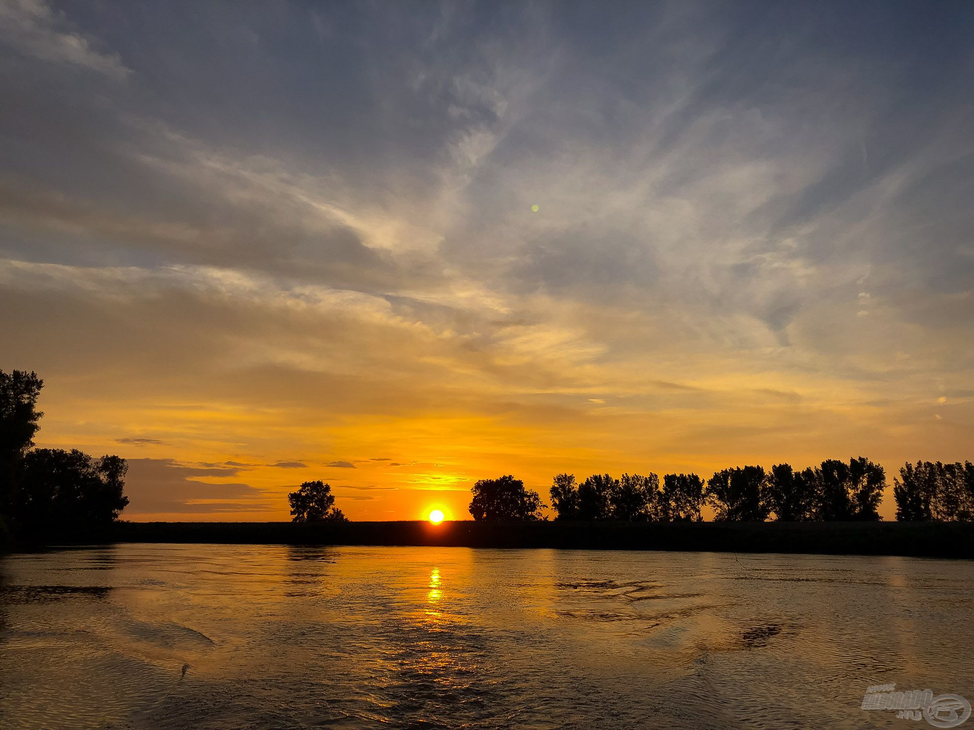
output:
M 974 458 L 972 33 L 949 1 L 0 0 L 0 368 L 45 381 L 38 446 L 129 459 L 131 520 Z

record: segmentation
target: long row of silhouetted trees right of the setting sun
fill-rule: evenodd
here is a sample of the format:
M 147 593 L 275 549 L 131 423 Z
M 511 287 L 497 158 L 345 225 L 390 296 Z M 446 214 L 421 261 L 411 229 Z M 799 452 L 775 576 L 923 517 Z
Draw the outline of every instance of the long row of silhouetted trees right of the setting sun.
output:
M 737 466 L 697 474 L 593 474 L 578 482 L 558 474 L 548 493 L 556 520 L 701 522 L 709 506 L 714 520 L 733 522 L 878 521 L 886 486 L 883 468 L 857 456 L 826 459 L 801 471 L 791 464 Z M 474 520 L 546 519 L 541 495 L 507 475 L 482 479 L 471 489 Z M 894 479 L 897 520 L 974 519 L 974 465 L 939 461 L 907 463 Z

